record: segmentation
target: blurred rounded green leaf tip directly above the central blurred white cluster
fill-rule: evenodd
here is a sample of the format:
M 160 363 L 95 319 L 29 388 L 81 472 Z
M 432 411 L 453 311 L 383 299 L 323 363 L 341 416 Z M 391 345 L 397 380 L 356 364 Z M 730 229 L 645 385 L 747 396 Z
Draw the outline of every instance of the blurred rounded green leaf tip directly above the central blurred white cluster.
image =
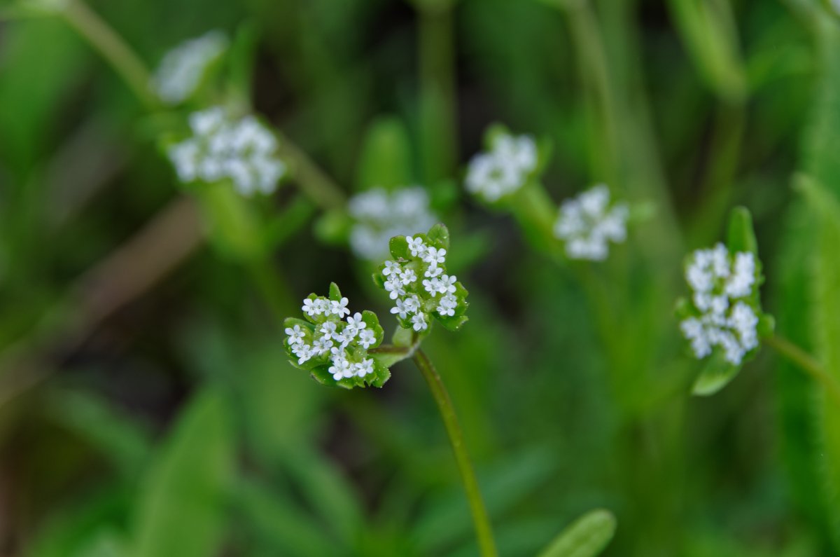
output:
M 412 145 L 402 120 L 386 116 L 368 128 L 356 188 L 394 189 L 412 183 Z

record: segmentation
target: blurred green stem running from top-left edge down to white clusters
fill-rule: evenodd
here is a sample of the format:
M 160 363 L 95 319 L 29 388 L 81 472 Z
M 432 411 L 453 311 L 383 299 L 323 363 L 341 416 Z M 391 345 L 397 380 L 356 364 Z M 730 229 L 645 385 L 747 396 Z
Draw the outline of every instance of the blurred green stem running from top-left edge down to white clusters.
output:
M 81 0 L 67 0 L 61 13 L 67 23 L 113 66 L 146 108 L 154 109 L 157 101 L 150 92 L 149 70 L 111 26 Z

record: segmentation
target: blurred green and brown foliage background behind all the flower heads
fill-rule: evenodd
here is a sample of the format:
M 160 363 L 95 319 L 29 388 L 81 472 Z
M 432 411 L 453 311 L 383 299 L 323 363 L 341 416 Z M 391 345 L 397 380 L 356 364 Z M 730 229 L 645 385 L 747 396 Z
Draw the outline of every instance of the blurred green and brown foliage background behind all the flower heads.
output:
M 617 516 L 611 556 L 840 554 L 813 385 L 765 349 L 692 397 L 673 314 L 685 253 L 743 204 L 765 310 L 814 346 L 790 178 L 840 189 L 830 3 L 92 0 L 113 36 L 75 0 L 21 5 L 0 9 L 0 555 L 477 555 L 417 369 L 332 389 L 282 346 L 277 317 L 330 281 L 396 326 L 347 240 L 373 185 L 425 188 L 452 233 L 470 321 L 425 350 L 502 555 L 594 507 Z M 154 68 L 212 29 L 223 69 L 175 108 L 110 63 L 124 41 Z M 239 202 L 259 257 L 161 146 L 207 103 L 253 109 L 297 162 Z M 555 204 L 606 181 L 647 220 L 606 263 L 532 249 L 461 185 L 494 122 L 553 145 Z

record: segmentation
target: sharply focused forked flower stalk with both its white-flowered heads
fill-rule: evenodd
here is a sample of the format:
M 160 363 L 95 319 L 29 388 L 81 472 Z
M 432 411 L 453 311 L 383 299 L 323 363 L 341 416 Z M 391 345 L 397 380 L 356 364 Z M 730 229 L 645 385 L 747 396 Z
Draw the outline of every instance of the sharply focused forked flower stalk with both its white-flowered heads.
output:
M 382 329 L 374 313 L 349 316 L 348 300 L 339 287 L 330 286 L 329 297 L 310 294 L 301 310 L 305 320 L 286 319 L 284 346 L 291 363 L 306 369 L 326 385 L 345 388 L 381 387 L 390 378 L 394 363 L 412 358 L 432 391 L 452 445 L 461 480 L 470 503 L 475 535 L 483 557 L 495 557 L 496 542 L 467 454 L 463 434 L 443 380 L 420 349 L 431 331 L 432 320 L 457 330 L 467 321 L 467 291 L 446 272 L 449 231 L 434 225 L 426 234 L 391 238 L 391 259 L 374 274 L 374 282 L 396 306 L 391 310 L 400 323 L 393 345 L 381 345 Z M 346 320 L 344 320 L 344 316 Z

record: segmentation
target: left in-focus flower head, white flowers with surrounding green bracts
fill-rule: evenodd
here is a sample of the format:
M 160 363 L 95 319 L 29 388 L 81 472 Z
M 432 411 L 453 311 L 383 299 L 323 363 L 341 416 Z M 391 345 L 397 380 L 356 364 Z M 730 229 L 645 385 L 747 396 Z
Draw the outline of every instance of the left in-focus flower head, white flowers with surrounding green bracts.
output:
M 350 315 L 347 304 L 334 283 L 328 298 L 309 294 L 301 308 L 305 319 L 285 321 L 286 352 L 294 365 L 325 385 L 381 387 L 391 372 L 369 353 L 382 342 L 379 319 L 368 310 Z

